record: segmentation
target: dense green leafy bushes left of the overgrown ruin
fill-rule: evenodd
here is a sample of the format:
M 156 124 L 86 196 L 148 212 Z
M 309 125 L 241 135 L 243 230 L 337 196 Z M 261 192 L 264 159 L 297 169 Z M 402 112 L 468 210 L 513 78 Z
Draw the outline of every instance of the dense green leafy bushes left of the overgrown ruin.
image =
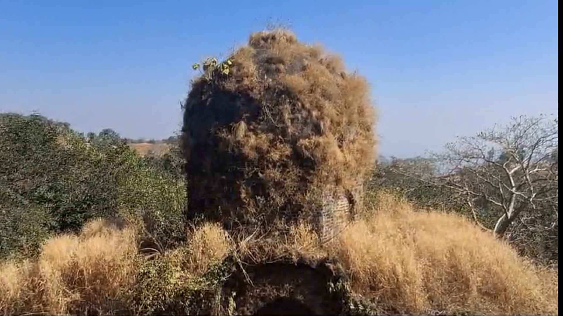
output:
M 142 212 L 155 237 L 181 231 L 183 181 L 144 161 L 114 131 L 84 136 L 39 114 L 2 114 L 0 148 L 1 256 L 123 211 Z

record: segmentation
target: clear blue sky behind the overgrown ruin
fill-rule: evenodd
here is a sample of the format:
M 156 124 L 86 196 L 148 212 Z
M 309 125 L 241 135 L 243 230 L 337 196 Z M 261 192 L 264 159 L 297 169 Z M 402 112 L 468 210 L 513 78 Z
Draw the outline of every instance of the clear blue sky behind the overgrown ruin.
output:
M 268 21 L 368 77 L 383 154 L 557 113 L 556 0 L 0 0 L 0 112 L 168 137 L 191 64 Z

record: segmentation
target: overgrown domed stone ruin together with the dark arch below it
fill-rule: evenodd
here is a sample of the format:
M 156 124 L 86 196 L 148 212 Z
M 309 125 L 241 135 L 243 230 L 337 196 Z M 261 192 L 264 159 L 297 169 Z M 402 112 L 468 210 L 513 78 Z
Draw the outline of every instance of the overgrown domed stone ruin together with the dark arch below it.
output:
M 225 61 L 205 61 L 183 104 L 186 220 L 271 245 L 297 223 L 332 239 L 361 210 L 375 161 L 369 92 L 338 56 L 287 30 L 253 33 Z M 346 313 L 346 291 L 334 288 L 344 274 L 325 259 L 234 266 L 223 312 Z

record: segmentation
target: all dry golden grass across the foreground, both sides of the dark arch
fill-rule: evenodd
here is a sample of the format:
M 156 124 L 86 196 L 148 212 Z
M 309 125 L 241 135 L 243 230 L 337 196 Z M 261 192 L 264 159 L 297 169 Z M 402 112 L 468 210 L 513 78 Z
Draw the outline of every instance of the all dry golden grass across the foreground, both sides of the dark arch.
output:
M 369 217 L 324 247 L 305 225 L 270 248 L 258 247 L 260 240 L 233 241 L 218 226 L 204 225 L 185 247 L 161 254 L 167 273 L 142 286 L 138 270 L 154 260 L 138 255 L 136 225 L 94 221 L 78 236 L 52 238 L 37 260 L 3 262 L 0 314 L 137 313 L 150 297 L 168 291 L 156 284 L 203 284 L 198 280 L 209 267 L 236 251 L 257 261 L 276 253 L 335 255 L 349 286 L 387 313 L 557 315 L 556 274 L 520 259 L 461 217 L 417 212 L 385 194 L 377 202 Z

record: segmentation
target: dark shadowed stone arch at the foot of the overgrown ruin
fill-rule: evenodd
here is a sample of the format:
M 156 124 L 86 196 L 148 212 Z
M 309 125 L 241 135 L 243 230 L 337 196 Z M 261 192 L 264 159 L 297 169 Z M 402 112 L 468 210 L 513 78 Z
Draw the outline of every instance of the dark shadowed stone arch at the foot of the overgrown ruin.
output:
M 237 315 L 343 314 L 347 293 L 334 288 L 342 277 L 325 260 L 245 265 L 224 283 L 221 305 L 234 302 Z

